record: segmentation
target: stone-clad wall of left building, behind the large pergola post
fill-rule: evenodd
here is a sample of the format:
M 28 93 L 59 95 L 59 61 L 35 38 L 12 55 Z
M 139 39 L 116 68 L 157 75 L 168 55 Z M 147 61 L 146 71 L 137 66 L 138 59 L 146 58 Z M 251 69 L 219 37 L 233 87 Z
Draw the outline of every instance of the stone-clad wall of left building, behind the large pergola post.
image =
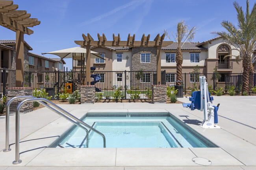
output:
M 8 45 L 13 48 L 16 48 L 15 45 Z M 28 48 L 24 46 L 24 71 L 29 71 L 29 56 L 28 56 Z M 16 69 L 16 52 L 11 51 L 11 69 Z

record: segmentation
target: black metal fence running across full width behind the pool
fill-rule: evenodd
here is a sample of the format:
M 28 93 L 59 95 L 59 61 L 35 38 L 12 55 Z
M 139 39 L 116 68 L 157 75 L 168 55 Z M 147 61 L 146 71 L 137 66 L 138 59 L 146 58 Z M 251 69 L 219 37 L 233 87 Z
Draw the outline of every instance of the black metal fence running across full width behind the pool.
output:
M 2 97 L 5 95 L 5 87 L 15 87 L 16 71 L 0 69 L 0 72 Z M 59 99 L 59 93 L 63 93 L 64 88 L 70 96 L 75 91 L 80 93 L 80 86 L 87 85 L 85 75 L 85 71 L 24 72 L 24 86 L 45 89 L 52 99 Z M 91 75 L 91 84 L 96 86 L 98 99 L 151 99 L 151 85 L 159 84 L 156 82 L 156 71 L 91 71 Z M 200 89 L 199 76 L 206 76 L 211 90 L 221 89 L 223 93 L 227 93 L 230 86 L 234 86 L 236 93 L 242 91 L 243 73 L 183 73 L 184 94 Z M 175 73 L 161 72 L 161 84 L 174 86 L 175 81 Z M 256 73 L 250 74 L 250 88 L 254 86 Z

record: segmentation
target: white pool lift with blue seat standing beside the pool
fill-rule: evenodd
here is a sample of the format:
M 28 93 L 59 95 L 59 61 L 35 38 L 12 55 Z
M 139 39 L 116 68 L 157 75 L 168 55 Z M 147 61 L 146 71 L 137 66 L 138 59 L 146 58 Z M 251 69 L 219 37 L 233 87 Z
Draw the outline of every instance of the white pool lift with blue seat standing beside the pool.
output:
M 191 103 L 183 103 L 183 107 L 190 108 L 191 110 L 200 110 L 204 113 L 204 120 L 201 123 L 202 128 L 221 128 L 216 125 L 218 123 L 217 106 L 212 106 L 213 96 L 208 91 L 208 84 L 205 76 L 200 76 L 200 91 L 194 91 L 189 97 Z

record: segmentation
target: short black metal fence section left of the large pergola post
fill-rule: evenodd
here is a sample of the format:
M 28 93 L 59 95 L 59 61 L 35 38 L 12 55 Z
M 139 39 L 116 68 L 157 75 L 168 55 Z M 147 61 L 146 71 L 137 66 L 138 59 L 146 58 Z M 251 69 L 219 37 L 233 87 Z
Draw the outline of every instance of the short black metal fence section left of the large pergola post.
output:
M 0 68 L 0 98 L 6 94 L 6 88 L 15 87 L 16 70 Z

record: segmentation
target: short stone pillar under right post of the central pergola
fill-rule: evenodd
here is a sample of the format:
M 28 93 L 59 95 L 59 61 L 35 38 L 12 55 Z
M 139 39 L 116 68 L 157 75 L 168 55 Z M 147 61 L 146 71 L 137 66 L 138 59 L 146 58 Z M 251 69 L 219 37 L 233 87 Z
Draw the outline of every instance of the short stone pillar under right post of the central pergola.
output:
M 152 102 L 159 104 L 159 103 L 166 103 L 167 101 L 167 85 L 152 85 Z

